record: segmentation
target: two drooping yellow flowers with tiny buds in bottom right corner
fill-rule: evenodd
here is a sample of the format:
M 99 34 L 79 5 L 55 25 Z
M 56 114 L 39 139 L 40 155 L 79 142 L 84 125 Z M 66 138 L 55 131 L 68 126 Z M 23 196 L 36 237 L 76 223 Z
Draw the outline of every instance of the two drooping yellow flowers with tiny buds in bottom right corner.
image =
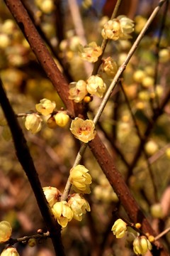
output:
M 141 225 L 140 223 L 137 223 L 137 225 L 135 226 L 136 228 L 140 228 Z M 119 218 L 118 220 L 115 221 L 111 230 L 113 231 L 113 234 L 116 238 L 123 238 L 127 233 L 127 223 L 125 223 L 125 221 Z M 152 241 L 153 240 L 154 239 L 152 237 Z M 152 244 L 144 235 L 137 236 L 133 241 L 133 250 L 136 255 L 145 255 L 147 250 L 152 250 Z

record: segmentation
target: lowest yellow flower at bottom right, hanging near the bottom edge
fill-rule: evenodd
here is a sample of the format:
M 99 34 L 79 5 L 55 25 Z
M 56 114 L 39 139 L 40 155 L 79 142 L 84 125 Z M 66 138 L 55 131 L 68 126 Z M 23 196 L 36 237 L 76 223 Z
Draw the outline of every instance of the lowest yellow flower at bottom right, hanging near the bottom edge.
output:
M 137 237 L 133 241 L 133 250 L 136 255 L 145 255 L 147 250 L 152 250 L 152 245 L 145 236 Z

